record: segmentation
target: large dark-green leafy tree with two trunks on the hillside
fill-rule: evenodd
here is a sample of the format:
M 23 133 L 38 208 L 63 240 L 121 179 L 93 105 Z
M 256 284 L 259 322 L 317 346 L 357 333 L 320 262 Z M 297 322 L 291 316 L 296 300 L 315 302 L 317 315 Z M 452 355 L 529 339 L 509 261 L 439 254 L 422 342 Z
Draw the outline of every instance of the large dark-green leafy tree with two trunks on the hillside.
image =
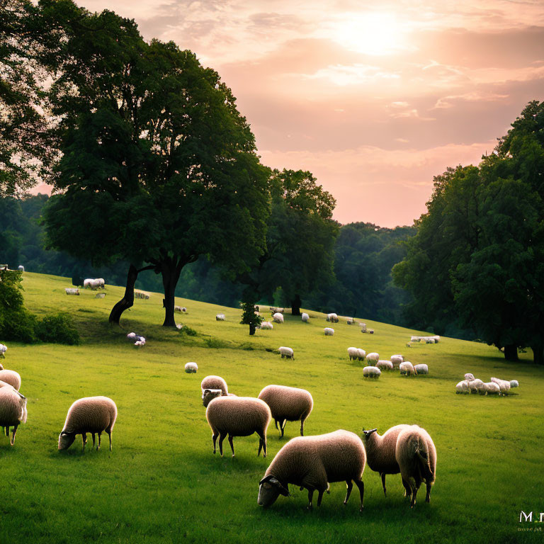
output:
M 183 266 L 207 254 L 242 272 L 263 251 L 268 169 L 217 72 L 173 42 L 146 43 L 115 13 L 77 15 L 59 13 L 67 39 L 53 60 L 62 159 L 45 213 L 50 245 L 129 261 L 118 310 L 138 271 L 161 273 L 164 325 L 174 326 Z

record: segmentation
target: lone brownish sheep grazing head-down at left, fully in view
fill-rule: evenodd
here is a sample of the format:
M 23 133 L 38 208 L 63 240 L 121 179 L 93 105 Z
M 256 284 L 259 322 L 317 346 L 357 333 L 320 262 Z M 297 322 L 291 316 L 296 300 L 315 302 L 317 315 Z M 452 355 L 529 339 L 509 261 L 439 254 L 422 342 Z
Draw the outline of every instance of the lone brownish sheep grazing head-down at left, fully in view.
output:
M 64 427 L 59 435 L 59 450 L 67 450 L 76 439 L 77 434 L 81 434 L 83 441 L 83 451 L 87 443 L 87 433 L 93 436 L 93 448 L 95 446 L 95 434 L 98 434 L 98 445 L 100 448 L 101 434 L 108 433 L 110 438 L 111 451 L 111 431 L 117 419 L 117 407 L 115 402 L 109 397 L 84 397 L 77 399 L 69 407 Z

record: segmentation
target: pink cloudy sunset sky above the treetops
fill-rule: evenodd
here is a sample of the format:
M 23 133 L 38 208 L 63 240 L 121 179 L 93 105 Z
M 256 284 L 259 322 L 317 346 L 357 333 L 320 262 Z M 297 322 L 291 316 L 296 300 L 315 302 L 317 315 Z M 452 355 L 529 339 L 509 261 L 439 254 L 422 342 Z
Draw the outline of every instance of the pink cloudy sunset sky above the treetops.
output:
M 412 225 L 544 100 L 542 0 L 79 0 L 219 72 L 263 164 L 310 170 L 334 218 Z

